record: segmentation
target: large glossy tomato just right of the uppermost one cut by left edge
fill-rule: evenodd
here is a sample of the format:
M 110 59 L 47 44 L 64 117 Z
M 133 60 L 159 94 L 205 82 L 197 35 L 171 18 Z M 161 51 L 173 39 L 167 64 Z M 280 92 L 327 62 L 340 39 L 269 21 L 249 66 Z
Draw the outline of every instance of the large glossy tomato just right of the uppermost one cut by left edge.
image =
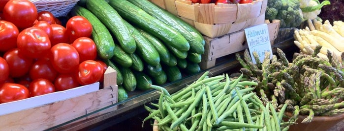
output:
M 49 36 L 44 30 L 37 27 L 24 29 L 17 39 L 18 48 L 30 58 L 42 58 L 51 48 Z

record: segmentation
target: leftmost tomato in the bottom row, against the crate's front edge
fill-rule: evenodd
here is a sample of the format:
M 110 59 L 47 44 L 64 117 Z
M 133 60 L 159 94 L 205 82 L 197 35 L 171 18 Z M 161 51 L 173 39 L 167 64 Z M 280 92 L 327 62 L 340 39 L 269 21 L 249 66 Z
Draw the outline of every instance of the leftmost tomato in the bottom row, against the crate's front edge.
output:
M 30 92 L 23 85 L 5 83 L 0 88 L 0 103 L 12 102 L 29 98 Z

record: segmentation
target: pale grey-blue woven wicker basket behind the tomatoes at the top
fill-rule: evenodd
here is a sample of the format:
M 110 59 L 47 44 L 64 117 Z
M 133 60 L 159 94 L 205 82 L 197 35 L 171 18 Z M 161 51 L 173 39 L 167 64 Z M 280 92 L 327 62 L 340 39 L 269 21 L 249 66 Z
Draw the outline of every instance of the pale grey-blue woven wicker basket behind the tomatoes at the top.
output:
M 66 16 L 79 0 L 30 0 L 37 12 L 49 11 L 55 17 Z

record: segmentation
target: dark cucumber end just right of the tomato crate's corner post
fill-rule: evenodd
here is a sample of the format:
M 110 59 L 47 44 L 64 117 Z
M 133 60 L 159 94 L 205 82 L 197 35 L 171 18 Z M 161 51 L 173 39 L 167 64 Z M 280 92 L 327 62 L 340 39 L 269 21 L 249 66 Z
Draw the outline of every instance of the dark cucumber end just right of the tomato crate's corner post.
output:
M 120 70 L 124 79 L 123 87 L 127 91 L 134 91 L 137 85 L 134 73 L 130 70 L 130 68 L 120 67 Z

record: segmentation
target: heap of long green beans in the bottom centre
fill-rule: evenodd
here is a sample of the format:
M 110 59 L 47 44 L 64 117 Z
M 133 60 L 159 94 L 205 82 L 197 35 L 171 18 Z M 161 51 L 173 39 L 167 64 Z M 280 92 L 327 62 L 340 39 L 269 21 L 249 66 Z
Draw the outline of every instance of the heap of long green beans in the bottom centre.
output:
M 157 103 L 146 106 L 159 131 L 286 131 L 282 120 L 287 105 L 277 112 L 272 104 L 263 105 L 256 93 L 258 84 L 242 81 L 243 74 L 230 80 L 228 74 L 197 81 L 170 95 L 163 87 Z

